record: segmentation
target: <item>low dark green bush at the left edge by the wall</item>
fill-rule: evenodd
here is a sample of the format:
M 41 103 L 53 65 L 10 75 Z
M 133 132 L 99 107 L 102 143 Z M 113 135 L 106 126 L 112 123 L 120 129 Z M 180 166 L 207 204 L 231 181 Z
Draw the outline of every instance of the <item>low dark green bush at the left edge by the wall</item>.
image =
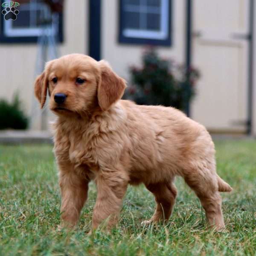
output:
M 11 103 L 0 99 L 0 130 L 26 129 L 28 118 L 20 107 L 20 99 L 16 94 Z

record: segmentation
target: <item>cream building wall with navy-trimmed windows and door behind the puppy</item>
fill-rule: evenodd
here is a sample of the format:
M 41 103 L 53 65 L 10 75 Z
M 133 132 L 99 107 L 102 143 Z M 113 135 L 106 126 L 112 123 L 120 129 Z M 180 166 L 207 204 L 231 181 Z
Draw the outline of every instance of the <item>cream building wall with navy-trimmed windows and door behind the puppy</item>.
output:
M 18 91 L 31 127 L 47 128 L 53 116 L 45 110 L 42 118 L 33 96 L 40 70 L 33 9 L 22 1 L 17 9 L 16 23 L 6 25 L 3 15 L 0 19 L 0 98 L 10 100 Z M 105 59 L 129 82 L 128 68 L 140 63 L 145 45 L 155 45 L 161 56 L 178 63 L 186 63 L 189 45 L 192 65 L 201 72 L 190 105 L 192 119 L 212 132 L 255 135 L 255 9 L 253 0 L 66 0 L 59 17 L 58 52 Z M 20 24 L 26 15 L 30 24 Z M 22 39 L 18 29 L 26 26 Z M 35 38 L 29 34 L 33 32 Z

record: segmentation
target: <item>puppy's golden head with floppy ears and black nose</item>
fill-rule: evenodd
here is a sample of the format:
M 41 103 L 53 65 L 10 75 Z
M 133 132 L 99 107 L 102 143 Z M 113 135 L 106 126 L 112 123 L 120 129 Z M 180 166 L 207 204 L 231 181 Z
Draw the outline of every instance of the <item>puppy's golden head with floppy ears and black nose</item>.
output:
M 43 108 L 48 90 L 49 108 L 59 115 L 72 115 L 96 107 L 108 110 L 121 99 L 125 87 L 125 80 L 106 61 L 70 54 L 46 64 L 35 80 L 35 96 Z

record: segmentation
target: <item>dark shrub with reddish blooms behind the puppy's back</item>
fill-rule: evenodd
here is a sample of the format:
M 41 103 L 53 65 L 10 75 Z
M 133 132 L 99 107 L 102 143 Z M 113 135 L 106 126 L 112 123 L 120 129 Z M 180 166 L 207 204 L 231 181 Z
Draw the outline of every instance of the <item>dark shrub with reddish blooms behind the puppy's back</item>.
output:
M 198 70 L 186 70 L 181 65 L 160 58 L 154 49 L 143 55 L 142 67 L 130 67 L 132 85 L 128 87 L 126 98 L 140 105 L 173 106 L 184 110 L 187 102 L 195 94 Z

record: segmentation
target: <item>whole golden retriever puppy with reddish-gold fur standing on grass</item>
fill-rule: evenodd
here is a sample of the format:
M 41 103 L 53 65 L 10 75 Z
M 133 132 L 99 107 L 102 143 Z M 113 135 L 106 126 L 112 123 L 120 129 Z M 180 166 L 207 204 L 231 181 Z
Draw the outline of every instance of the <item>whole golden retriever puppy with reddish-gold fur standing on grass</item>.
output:
M 224 225 L 219 192 L 231 187 L 216 173 L 215 149 L 204 126 L 175 108 L 121 100 L 125 80 L 106 61 L 71 54 L 49 61 L 35 96 L 57 115 L 54 152 L 59 169 L 61 219 L 74 227 L 96 182 L 92 228 L 116 223 L 128 184 L 144 183 L 155 196 L 149 221 L 168 220 L 182 176 L 195 191 L 210 226 Z

